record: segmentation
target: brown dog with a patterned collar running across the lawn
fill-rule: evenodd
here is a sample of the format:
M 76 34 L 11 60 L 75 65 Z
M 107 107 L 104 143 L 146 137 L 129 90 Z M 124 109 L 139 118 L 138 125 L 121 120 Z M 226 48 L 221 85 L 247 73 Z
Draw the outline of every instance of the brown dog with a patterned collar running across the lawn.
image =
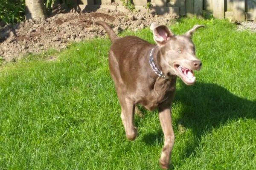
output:
M 160 165 L 167 169 L 175 140 L 170 106 L 176 79 L 180 77 L 187 85 L 195 83 L 193 71 L 199 71 L 202 62 L 195 56 L 191 36 L 203 26 L 196 25 L 184 35 L 174 35 L 168 27 L 152 23 L 150 28 L 157 43 L 153 45 L 135 36 L 119 38 L 104 21 L 96 24 L 105 28 L 112 42 L 109 69 L 122 107 L 126 137 L 129 140 L 137 137 L 133 124 L 136 104 L 149 111 L 158 108 L 165 138 Z

